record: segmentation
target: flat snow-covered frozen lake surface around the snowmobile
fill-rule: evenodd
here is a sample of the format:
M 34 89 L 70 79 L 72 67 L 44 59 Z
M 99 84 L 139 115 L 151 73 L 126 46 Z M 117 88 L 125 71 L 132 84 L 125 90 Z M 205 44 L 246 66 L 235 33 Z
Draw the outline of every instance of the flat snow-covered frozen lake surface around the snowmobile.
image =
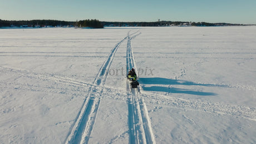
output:
M 253 26 L 0 29 L 0 143 L 256 143 L 255 46 Z

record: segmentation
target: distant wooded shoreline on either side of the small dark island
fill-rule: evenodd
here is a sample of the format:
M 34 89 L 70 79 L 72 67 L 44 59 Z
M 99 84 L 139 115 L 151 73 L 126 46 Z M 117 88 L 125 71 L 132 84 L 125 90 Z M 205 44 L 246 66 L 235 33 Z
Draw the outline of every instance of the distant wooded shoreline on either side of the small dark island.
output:
M 233 23 L 207 23 L 207 22 L 181 22 L 181 21 L 157 21 L 157 22 L 100 22 L 104 27 L 214 27 L 214 26 L 256 26 L 256 24 Z M 31 21 L 7 21 L 0 19 L 0 28 L 42 28 L 42 27 L 80 27 L 78 21 L 58 21 L 50 19 L 35 19 Z

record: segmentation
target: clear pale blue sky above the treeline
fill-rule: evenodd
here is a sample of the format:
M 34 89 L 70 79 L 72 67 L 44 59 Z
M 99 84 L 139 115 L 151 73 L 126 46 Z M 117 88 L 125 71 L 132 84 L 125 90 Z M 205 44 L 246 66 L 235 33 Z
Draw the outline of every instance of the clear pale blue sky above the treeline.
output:
M 0 19 L 256 24 L 256 0 L 0 0 Z

